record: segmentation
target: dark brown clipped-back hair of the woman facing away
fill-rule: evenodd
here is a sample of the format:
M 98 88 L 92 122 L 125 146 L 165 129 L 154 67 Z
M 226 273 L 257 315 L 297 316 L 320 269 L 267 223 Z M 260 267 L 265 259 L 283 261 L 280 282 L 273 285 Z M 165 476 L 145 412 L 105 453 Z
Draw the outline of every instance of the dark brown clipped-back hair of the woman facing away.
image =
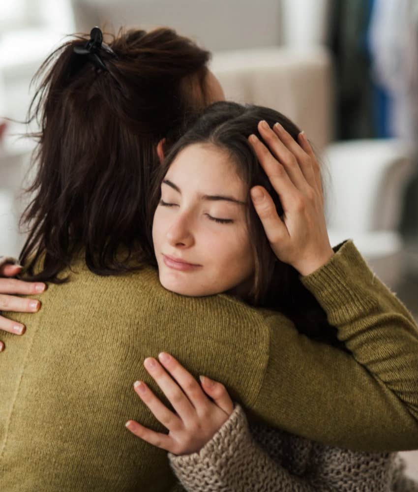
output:
M 32 134 L 37 170 L 20 256 L 32 279 L 63 281 L 80 248 L 99 275 L 152 258 L 146 217 L 156 146 L 176 141 L 184 120 L 207 103 L 209 52 L 190 39 L 166 28 L 120 31 L 108 41 L 116 58 L 100 50 L 107 70 L 74 53 L 88 39 L 60 46 L 35 75 L 28 122 L 40 125 Z

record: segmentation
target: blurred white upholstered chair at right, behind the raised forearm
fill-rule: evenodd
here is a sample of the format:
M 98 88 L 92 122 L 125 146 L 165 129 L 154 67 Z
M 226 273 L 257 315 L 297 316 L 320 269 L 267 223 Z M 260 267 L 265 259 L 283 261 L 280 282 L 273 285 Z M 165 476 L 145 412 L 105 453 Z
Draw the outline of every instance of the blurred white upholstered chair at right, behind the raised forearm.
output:
M 414 172 L 412 151 L 395 139 L 328 146 L 325 165 L 328 234 L 334 246 L 352 238 L 370 267 L 395 289 L 403 272 L 398 232 L 402 195 Z

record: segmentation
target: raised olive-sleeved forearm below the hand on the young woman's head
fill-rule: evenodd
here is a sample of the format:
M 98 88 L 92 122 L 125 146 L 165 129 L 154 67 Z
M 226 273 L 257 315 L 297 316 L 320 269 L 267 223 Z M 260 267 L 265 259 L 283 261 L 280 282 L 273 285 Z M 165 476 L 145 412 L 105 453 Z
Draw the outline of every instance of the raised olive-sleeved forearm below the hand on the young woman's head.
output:
M 359 364 L 418 418 L 418 328 L 408 309 L 368 268 L 353 243 L 326 268 L 301 277 Z M 343 253 L 343 254 L 341 254 Z

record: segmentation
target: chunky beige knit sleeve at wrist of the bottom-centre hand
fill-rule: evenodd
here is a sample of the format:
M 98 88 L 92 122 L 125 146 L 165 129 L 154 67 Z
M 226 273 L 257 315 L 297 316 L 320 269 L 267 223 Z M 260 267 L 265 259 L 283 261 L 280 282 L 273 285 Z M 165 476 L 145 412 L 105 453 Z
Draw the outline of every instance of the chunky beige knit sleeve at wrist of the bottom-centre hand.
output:
M 239 405 L 198 452 L 168 454 L 170 465 L 188 492 L 287 491 L 315 489 L 273 461 L 253 440 Z

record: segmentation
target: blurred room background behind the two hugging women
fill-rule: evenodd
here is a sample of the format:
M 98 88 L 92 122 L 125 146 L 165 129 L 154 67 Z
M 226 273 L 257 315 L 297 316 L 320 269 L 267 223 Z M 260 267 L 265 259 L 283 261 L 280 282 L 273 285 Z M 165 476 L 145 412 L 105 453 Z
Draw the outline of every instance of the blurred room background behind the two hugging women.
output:
M 34 145 L 4 118 L 25 119 L 40 63 L 95 25 L 175 28 L 212 51 L 227 98 L 304 129 L 324 166 L 331 245 L 352 238 L 418 318 L 416 0 L 2 0 L 0 254 L 18 256 L 25 238 Z

